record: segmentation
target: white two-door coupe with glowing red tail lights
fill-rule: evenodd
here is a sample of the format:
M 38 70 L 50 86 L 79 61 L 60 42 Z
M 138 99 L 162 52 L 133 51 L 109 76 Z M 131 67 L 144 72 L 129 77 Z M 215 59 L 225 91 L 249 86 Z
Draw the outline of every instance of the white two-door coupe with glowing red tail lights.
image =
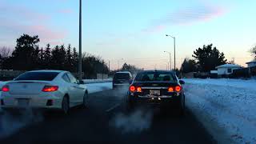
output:
M 14 78 L 2 86 L 0 104 L 3 110 L 42 108 L 62 110 L 87 106 L 88 90 L 68 71 L 34 70 Z

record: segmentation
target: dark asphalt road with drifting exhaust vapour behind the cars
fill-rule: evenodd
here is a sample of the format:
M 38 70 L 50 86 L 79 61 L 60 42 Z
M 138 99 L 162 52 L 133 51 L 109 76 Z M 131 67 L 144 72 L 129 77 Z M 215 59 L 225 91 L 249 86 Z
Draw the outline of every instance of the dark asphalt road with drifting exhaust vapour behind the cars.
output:
M 194 115 L 186 110 L 138 108 L 126 112 L 126 92 L 106 90 L 90 94 L 88 109 L 75 108 L 70 115 L 44 114 L 40 122 L 27 124 L 0 143 L 214 143 Z

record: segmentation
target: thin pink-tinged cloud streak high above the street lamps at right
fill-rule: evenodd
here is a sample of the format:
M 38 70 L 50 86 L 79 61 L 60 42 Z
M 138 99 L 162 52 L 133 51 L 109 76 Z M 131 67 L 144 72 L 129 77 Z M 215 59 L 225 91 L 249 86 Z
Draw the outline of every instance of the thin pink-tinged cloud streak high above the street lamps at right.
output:
M 224 6 L 216 6 L 207 1 L 198 1 L 199 5 L 187 7 L 170 12 L 163 18 L 158 18 L 151 23 L 153 25 L 142 29 L 142 33 L 155 34 L 166 30 L 168 25 L 187 26 L 197 22 L 208 22 L 214 18 L 219 18 L 228 12 Z

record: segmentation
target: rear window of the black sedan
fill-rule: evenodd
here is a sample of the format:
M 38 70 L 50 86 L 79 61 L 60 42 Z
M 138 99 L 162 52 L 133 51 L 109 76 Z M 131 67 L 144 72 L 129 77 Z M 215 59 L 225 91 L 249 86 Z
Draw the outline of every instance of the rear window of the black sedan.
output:
M 136 76 L 135 81 L 159 81 L 159 82 L 175 82 L 174 74 L 170 72 L 144 72 Z

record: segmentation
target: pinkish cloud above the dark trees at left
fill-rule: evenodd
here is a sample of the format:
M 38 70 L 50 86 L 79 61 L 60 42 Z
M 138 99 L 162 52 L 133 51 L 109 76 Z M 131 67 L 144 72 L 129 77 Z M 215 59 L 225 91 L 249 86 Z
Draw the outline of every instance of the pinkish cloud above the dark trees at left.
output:
M 50 19 L 50 16 L 37 13 L 26 6 L 1 3 L 0 31 L 4 34 L 1 34 L 0 38 L 7 37 L 14 40 L 21 34 L 31 34 L 38 35 L 41 43 L 44 44 L 61 42 L 66 37 L 67 31 L 50 27 L 48 25 Z

